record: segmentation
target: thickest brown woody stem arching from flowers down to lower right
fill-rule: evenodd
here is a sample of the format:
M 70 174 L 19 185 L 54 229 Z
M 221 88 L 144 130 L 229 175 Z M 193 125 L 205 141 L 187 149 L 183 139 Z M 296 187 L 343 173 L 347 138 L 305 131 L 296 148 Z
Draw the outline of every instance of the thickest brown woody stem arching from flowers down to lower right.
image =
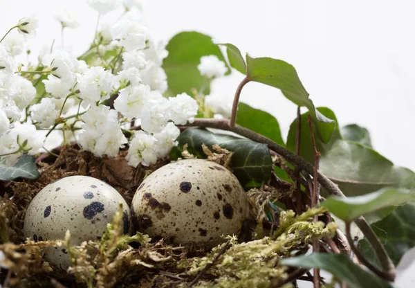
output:
M 275 143 L 274 141 L 266 138 L 265 136 L 262 136 L 260 134 L 257 134 L 250 129 L 246 129 L 244 127 L 241 127 L 239 125 L 234 125 L 234 127 L 230 126 L 229 120 L 226 119 L 206 119 L 206 118 L 196 118 L 193 123 L 187 123 L 187 126 L 191 127 L 209 127 L 209 128 L 216 128 L 216 129 L 222 129 L 230 132 L 234 132 L 236 134 L 239 134 L 241 136 L 244 136 L 246 138 L 251 139 L 252 141 L 256 141 L 258 143 L 264 143 L 267 144 L 270 150 L 273 150 L 274 152 L 277 152 L 277 154 L 281 155 L 286 159 L 286 161 L 292 163 L 293 165 L 299 165 L 302 170 L 308 172 L 308 174 L 313 175 L 314 174 L 314 167 L 311 165 L 311 163 L 308 163 L 308 161 L 302 159 L 301 157 L 297 156 L 295 153 L 291 152 L 290 150 L 286 149 L 285 147 L 282 147 Z M 185 125 L 185 126 L 186 126 Z M 321 184 L 321 186 L 326 190 L 326 192 L 329 193 L 329 195 L 337 195 L 339 197 L 345 197 L 342 191 L 338 188 L 338 186 L 333 183 L 329 178 L 327 178 L 324 174 L 317 171 L 318 177 L 316 177 L 318 183 Z M 359 217 L 355 220 L 356 224 L 362 231 L 363 235 L 365 235 L 366 240 L 371 244 L 372 248 L 375 251 L 376 257 L 378 258 L 380 264 L 382 265 L 382 268 L 391 271 L 394 273 L 394 263 L 389 258 L 389 255 L 387 255 L 387 252 L 383 245 L 380 243 L 378 237 L 376 237 L 376 234 L 371 229 L 369 224 L 366 222 L 364 217 Z

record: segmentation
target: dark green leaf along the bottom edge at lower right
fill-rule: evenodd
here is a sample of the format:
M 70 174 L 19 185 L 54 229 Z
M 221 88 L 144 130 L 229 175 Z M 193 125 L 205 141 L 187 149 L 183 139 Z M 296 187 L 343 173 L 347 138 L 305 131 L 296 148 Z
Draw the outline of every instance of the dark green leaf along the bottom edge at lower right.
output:
M 391 283 L 358 267 L 344 254 L 312 253 L 307 256 L 282 259 L 278 264 L 307 269 L 323 269 L 333 274 L 335 278 L 346 282 L 349 288 L 393 287 Z

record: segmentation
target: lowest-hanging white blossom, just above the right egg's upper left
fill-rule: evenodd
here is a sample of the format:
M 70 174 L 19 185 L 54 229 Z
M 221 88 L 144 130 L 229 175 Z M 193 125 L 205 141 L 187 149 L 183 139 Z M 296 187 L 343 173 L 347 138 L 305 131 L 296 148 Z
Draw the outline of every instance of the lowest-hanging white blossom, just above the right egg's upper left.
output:
M 155 164 L 157 162 L 156 141 L 157 139 L 151 134 L 142 130 L 137 131 L 125 157 L 128 165 L 136 168 L 140 163 L 145 166 Z

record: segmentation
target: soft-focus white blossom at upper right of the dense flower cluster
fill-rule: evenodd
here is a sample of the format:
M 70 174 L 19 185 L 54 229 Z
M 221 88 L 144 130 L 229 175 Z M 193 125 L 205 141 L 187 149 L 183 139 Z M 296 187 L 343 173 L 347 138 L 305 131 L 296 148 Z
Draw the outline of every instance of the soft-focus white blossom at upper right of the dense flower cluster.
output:
M 145 48 L 148 39 L 148 28 L 130 19 L 120 20 L 111 33 L 127 51 Z

